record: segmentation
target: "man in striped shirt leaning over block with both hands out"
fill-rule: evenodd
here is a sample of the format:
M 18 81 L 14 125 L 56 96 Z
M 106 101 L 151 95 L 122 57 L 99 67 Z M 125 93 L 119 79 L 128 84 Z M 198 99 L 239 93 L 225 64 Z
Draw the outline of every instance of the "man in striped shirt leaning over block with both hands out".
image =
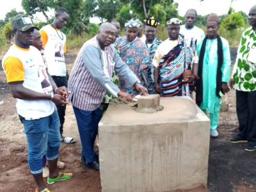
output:
M 117 29 L 109 22 L 103 23 L 96 36 L 84 43 L 77 54 L 68 82 L 69 98 L 76 116 L 82 144 L 82 157 L 89 168 L 99 170 L 99 160 L 95 156 L 93 143 L 97 136 L 102 113 L 100 103 L 107 92 L 115 97 L 132 101 L 132 96 L 121 92 L 111 81 L 112 73 L 123 77 L 143 95 L 147 90 L 138 77 L 122 61 L 112 42 Z

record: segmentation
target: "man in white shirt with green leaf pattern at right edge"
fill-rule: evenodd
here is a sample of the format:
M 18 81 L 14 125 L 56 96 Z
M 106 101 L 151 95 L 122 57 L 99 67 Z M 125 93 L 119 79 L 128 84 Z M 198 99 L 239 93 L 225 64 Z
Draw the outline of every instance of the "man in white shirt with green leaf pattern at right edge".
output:
M 256 5 L 248 16 L 251 28 L 246 29 L 237 49 L 237 58 L 230 79 L 236 90 L 236 112 L 239 131 L 230 143 L 247 143 L 245 150 L 256 150 Z

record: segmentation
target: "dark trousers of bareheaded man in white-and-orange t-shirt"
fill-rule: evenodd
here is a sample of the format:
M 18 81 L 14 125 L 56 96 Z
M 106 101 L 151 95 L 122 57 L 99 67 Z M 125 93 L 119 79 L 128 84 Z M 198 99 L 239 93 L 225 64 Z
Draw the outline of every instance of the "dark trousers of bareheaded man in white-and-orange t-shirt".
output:
M 52 79 L 56 83 L 57 87 L 66 86 L 67 87 L 67 77 L 59 77 L 59 76 L 52 76 Z M 56 105 L 58 116 L 60 118 L 60 134 L 63 134 L 63 124 L 65 122 L 65 115 L 66 115 L 66 105 Z

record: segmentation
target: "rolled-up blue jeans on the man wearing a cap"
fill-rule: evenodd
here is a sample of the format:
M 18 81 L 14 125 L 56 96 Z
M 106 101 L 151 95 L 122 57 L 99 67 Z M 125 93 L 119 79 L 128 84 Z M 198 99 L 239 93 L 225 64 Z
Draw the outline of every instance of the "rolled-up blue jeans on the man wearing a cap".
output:
M 24 126 L 28 142 L 28 165 L 32 174 L 43 171 L 42 157 L 46 154 L 47 160 L 53 160 L 59 156 L 61 144 L 60 120 L 58 113 L 36 120 L 25 120 L 20 116 Z

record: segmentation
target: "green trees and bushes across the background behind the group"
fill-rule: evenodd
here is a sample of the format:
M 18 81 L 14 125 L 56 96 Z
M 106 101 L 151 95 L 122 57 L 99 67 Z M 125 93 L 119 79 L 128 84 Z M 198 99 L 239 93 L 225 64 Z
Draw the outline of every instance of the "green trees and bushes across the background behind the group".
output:
M 102 22 L 104 20 L 118 20 L 121 25 L 120 35 L 124 35 L 124 24 L 127 20 L 138 18 L 143 21 L 146 16 L 154 16 L 161 23 L 157 27 L 157 38 L 161 40 L 168 38 L 166 20 L 177 17 L 184 21 L 184 17 L 178 15 L 178 4 L 173 3 L 173 0 L 22 0 L 22 8 L 26 11 L 26 15 L 33 17 L 33 14 L 42 12 L 47 19 L 46 23 L 36 23 L 38 28 L 51 23 L 54 17 L 47 15 L 47 11 L 56 10 L 60 6 L 67 8 L 70 13 L 67 26 L 61 30 L 67 35 L 68 49 L 81 47 L 86 40 L 97 34 L 99 25 L 90 24 L 90 17 L 100 17 Z M 19 13 L 24 14 L 23 12 Z M 9 46 L 8 43 L 12 39 L 10 20 L 17 14 L 15 9 L 11 10 L 6 13 L 4 20 L 0 20 L 2 31 L 0 47 L 2 50 L 3 47 Z M 208 15 L 198 15 L 195 25 L 205 30 L 207 17 Z M 243 30 L 248 26 L 246 13 L 234 13 L 234 10 L 230 8 L 228 15 L 220 15 L 220 20 L 218 33 L 226 38 L 231 46 L 237 46 Z

